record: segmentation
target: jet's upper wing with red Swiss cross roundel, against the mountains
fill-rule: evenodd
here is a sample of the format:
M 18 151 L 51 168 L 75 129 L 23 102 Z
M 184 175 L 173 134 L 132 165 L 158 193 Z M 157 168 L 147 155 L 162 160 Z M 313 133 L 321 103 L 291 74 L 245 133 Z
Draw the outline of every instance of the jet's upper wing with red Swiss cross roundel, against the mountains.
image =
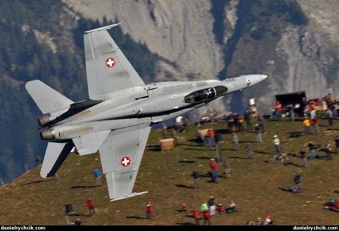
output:
M 145 85 L 107 32 L 106 29 L 115 25 L 118 24 L 84 34 L 88 94 L 93 100 L 107 99 L 110 92 Z

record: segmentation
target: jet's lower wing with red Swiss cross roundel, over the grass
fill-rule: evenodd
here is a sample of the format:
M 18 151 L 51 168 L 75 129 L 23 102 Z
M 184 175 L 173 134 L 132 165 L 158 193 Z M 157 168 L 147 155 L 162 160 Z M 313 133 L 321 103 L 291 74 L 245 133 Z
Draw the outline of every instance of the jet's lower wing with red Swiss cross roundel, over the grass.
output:
M 132 193 L 151 127 L 148 123 L 111 131 L 99 154 L 109 198 L 117 201 L 147 193 Z

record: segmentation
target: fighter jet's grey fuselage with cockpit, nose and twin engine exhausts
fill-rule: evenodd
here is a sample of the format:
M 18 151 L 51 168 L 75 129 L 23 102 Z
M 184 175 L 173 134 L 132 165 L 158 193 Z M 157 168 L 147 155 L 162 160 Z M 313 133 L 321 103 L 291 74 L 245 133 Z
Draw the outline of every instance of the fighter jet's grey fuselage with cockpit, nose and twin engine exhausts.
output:
M 40 118 L 39 121 L 44 122 L 39 125 L 49 128 L 42 131 L 40 137 L 48 141 L 67 141 L 74 138 L 74 134 L 120 129 L 137 125 L 140 120 L 150 120 L 153 124 L 164 122 L 211 103 L 225 94 L 253 86 L 266 77 L 251 74 L 223 81 L 162 82 L 125 89 L 112 93 L 112 98 L 97 101 L 80 112 L 82 104 L 87 107 L 88 101 L 74 103 L 77 104 L 73 109 L 74 114 L 69 110 L 72 108 L 70 105 L 69 108 L 43 115 L 42 118 L 47 117 L 49 120 Z M 66 111 L 69 117 L 60 120 L 59 115 Z

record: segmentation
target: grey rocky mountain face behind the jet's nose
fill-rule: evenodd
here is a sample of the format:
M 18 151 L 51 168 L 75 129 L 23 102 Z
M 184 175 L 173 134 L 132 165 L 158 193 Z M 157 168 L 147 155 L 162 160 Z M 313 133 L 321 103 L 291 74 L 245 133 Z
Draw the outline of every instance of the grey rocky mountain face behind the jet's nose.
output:
M 175 62 L 176 67 L 156 64 L 161 70 L 159 81 L 168 81 L 166 71 L 174 73 L 177 80 L 268 74 L 265 82 L 225 96 L 222 105 L 214 108 L 222 106 L 243 113 L 249 98 L 254 97 L 259 112 L 266 114 L 273 109 L 275 94 L 295 91 L 306 91 L 311 98 L 328 93 L 339 98 L 339 5 L 335 0 L 285 1 L 296 2 L 305 14 L 307 22 L 300 25 L 284 20 L 286 15 L 279 14 L 266 17 L 263 25 L 255 20 L 251 23 L 248 15 L 255 14 L 255 8 L 263 18 L 274 10 L 275 6 L 265 8 L 270 1 L 251 1 L 256 4 L 250 11 L 246 9 L 249 2 L 242 0 L 63 2 L 87 18 L 102 20 L 105 16 L 121 22 L 124 33 Z M 241 23 L 242 19 L 246 25 Z M 259 39 L 249 36 L 258 27 L 263 27 L 262 36 Z M 214 109 L 213 104 L 210 107 Z

